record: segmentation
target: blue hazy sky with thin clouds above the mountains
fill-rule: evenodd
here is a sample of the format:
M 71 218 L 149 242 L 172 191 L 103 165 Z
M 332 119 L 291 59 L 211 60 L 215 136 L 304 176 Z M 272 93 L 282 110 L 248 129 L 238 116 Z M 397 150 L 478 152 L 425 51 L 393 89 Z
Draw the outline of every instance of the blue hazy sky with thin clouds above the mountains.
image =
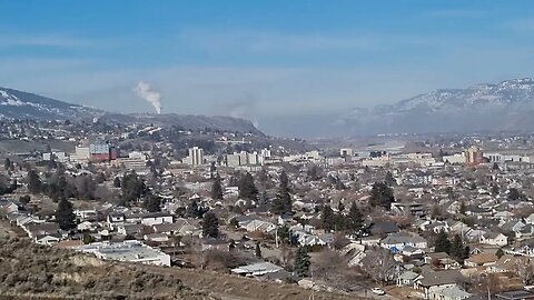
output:
M 533 76 L 534 1 L 0 0 L 0 87 L 261 122 Z

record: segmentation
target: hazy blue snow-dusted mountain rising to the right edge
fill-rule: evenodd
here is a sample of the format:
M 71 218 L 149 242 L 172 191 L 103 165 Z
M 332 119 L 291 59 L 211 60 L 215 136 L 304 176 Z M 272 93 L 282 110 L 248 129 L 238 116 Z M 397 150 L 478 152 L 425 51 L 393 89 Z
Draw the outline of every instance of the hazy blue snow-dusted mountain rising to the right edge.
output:
M 293 136 L 343 137 L 379 133 L 473 133 L 534 131 L 534 79 L 505 80 L 466 89 L 441 89 L 389 106 L 339 114 L 279 120 Z M 304 124 L 298 127 L 298 123 Z M 301 130 L 298 132 L 298 130 Z M 277 132 L 274 128 L 270 131 Z

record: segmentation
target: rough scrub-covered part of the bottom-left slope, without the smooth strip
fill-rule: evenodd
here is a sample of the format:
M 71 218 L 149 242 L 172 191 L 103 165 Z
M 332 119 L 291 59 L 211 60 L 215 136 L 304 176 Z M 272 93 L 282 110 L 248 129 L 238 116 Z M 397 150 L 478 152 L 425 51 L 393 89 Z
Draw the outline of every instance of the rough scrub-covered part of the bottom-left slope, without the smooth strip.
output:
M 16 299 L 212 299 L 172 274 L 39 247 L 28 239 L 0 241 L 0 291 Z

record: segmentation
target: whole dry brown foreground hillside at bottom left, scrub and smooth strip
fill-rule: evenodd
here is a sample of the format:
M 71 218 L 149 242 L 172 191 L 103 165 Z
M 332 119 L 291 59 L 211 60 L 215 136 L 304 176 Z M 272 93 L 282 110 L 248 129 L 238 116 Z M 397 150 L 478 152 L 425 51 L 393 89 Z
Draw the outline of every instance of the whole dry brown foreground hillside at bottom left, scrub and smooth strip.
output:
M 313 296 L 312 296 L 313 294 Z M 29 239 L 0 238 L 0 300 L 358 299 L 204 270 L 102 261 Z

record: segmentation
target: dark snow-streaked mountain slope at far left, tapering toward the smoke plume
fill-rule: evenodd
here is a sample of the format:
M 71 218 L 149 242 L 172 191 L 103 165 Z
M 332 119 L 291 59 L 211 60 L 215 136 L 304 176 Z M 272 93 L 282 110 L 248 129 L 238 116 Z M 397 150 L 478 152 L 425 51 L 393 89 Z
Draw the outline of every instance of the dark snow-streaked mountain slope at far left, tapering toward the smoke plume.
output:
M 0 88 L 0 118 L 65 120 L 92 118 L 102 113 L 34 93 Z

